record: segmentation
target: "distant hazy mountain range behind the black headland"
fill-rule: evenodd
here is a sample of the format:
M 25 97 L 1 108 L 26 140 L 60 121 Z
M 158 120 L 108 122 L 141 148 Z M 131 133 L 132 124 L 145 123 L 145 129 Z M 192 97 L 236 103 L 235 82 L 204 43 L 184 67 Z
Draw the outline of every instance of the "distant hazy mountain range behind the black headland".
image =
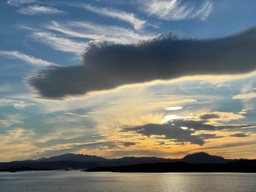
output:
M 95 155 L 83 154 L 63 154 L 48 158 L 25 161 L 11 161 L 0 163 L 0 171 L 8 169 L 35 168 L 37 169 L 88 169 L 106 166 L 124 166 L 136 164 L 155 164 L 155 163 L 191 163 L 191 164 L 226 164 L 242 159 L 224 159 L 221 156 L 209 155 L 206 152 L 189 154 L 182 159 L 164 159 L 159 157 L 122 157 L 119 159 L 105 159 Z

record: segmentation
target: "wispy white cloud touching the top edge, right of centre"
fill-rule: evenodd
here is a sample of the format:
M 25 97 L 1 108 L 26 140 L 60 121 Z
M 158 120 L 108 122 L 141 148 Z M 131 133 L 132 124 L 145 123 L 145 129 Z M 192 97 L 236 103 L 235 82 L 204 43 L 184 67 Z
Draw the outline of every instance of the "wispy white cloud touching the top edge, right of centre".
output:
M 166 21 L 200 18 L 205 20 L 213 11 L 211 1 L 195 3 L 184 0 L 141 1 L 141 11 Z

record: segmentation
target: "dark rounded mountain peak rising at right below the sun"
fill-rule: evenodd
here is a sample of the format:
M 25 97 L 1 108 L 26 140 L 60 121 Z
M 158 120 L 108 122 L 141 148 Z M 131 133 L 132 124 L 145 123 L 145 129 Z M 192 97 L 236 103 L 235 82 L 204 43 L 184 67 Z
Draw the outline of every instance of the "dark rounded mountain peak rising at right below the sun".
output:
M 198 152 L 189 154 L 183 157 L 181 161 L 185 163 L 203 164 L 203 163 L 228 163 L 230 160 L 224 159 L 221 156 L 210 155 L 206 152 Z

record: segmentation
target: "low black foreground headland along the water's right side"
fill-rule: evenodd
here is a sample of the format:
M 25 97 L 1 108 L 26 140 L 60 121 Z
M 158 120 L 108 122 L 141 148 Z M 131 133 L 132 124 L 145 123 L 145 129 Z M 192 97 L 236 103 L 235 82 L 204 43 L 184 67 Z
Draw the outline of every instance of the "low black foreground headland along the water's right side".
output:
M 221 173 L 256 173 L 256 160 L 241 160 L 219 164 L 190 164 L 184 162 L 139 164 L 111 167 L 96 167 L 86 172 L 119 173 L 185 173 L 185 172 L 221 172 Z

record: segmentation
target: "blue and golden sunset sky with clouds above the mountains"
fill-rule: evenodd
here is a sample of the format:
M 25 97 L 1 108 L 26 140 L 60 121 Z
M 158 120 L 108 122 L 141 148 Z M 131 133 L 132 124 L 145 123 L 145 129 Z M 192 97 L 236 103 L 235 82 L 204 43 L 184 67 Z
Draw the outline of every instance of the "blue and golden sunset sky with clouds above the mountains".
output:
M 253 0 L 2 0 L 0 161 L 256 159 Z

